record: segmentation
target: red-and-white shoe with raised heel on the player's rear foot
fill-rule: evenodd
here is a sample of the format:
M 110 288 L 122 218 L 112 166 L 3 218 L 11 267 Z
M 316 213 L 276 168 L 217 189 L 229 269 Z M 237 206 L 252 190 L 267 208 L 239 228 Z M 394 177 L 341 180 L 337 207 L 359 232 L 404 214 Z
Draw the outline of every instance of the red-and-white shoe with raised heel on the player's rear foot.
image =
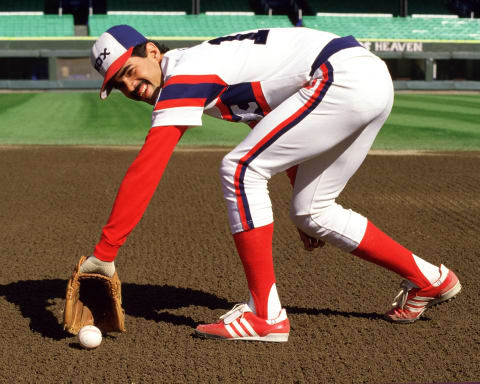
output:
M 413 323 L 427 308 L 453 299 L 462 289 L 458 277 L 443 264 L 440 265 L 440 278 L 425 288 L 416 288 L 404 280 L 402 290 L 395 297 L 392 309 L 385 314 L 387 320 L 396 323 Z

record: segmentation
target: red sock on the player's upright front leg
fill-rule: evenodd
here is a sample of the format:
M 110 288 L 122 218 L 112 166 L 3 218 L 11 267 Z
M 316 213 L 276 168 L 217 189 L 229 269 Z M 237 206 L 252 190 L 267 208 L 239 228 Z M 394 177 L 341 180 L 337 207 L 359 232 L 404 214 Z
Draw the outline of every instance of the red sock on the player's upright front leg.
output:
M 273 271 L 273 223 L 233 235 L 247 276 L 248 289 L 258 317 L 268 318 L 268 295 L 275 283 Z

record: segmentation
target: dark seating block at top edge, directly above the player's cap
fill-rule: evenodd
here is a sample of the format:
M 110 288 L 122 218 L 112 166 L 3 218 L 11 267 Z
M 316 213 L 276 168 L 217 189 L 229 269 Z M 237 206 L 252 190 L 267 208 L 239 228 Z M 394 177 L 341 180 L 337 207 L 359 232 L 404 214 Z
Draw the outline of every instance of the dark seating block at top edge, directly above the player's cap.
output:
M 107 10 L 191 13 L 192 0 L 107 0 Z

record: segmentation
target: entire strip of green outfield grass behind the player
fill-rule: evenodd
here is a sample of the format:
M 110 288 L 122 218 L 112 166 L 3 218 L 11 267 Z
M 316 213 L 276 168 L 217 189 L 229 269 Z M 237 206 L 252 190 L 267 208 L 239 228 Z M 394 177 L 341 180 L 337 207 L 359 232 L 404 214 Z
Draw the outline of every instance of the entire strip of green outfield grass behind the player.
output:
M 0 145 L 139 145 L 151 110 L 119 93 L 4 93 Z M 204 116 L 180 145 L 233 146 L 249 130 Z M 374 149 L 480 150 L 480 95 L 397 94 Z

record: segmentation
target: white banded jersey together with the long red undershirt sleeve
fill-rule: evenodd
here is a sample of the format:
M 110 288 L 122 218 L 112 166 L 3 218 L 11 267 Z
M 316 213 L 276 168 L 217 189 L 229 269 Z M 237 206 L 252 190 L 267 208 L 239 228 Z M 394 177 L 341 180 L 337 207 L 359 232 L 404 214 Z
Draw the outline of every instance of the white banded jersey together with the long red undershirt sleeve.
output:
M 188 126 L 202 125 L 204 112 L 255 125 L 309 83 L 323 56 L 331 54 L 328 43 L 336 38 L 307 28 L 272 28 L 167 52 L 160 64 L 164 85 L 152 113 L 152 129 L 120 185 L 94 255 L 115 259 Z M 340 44 L 351 45 L 350 40 Z

